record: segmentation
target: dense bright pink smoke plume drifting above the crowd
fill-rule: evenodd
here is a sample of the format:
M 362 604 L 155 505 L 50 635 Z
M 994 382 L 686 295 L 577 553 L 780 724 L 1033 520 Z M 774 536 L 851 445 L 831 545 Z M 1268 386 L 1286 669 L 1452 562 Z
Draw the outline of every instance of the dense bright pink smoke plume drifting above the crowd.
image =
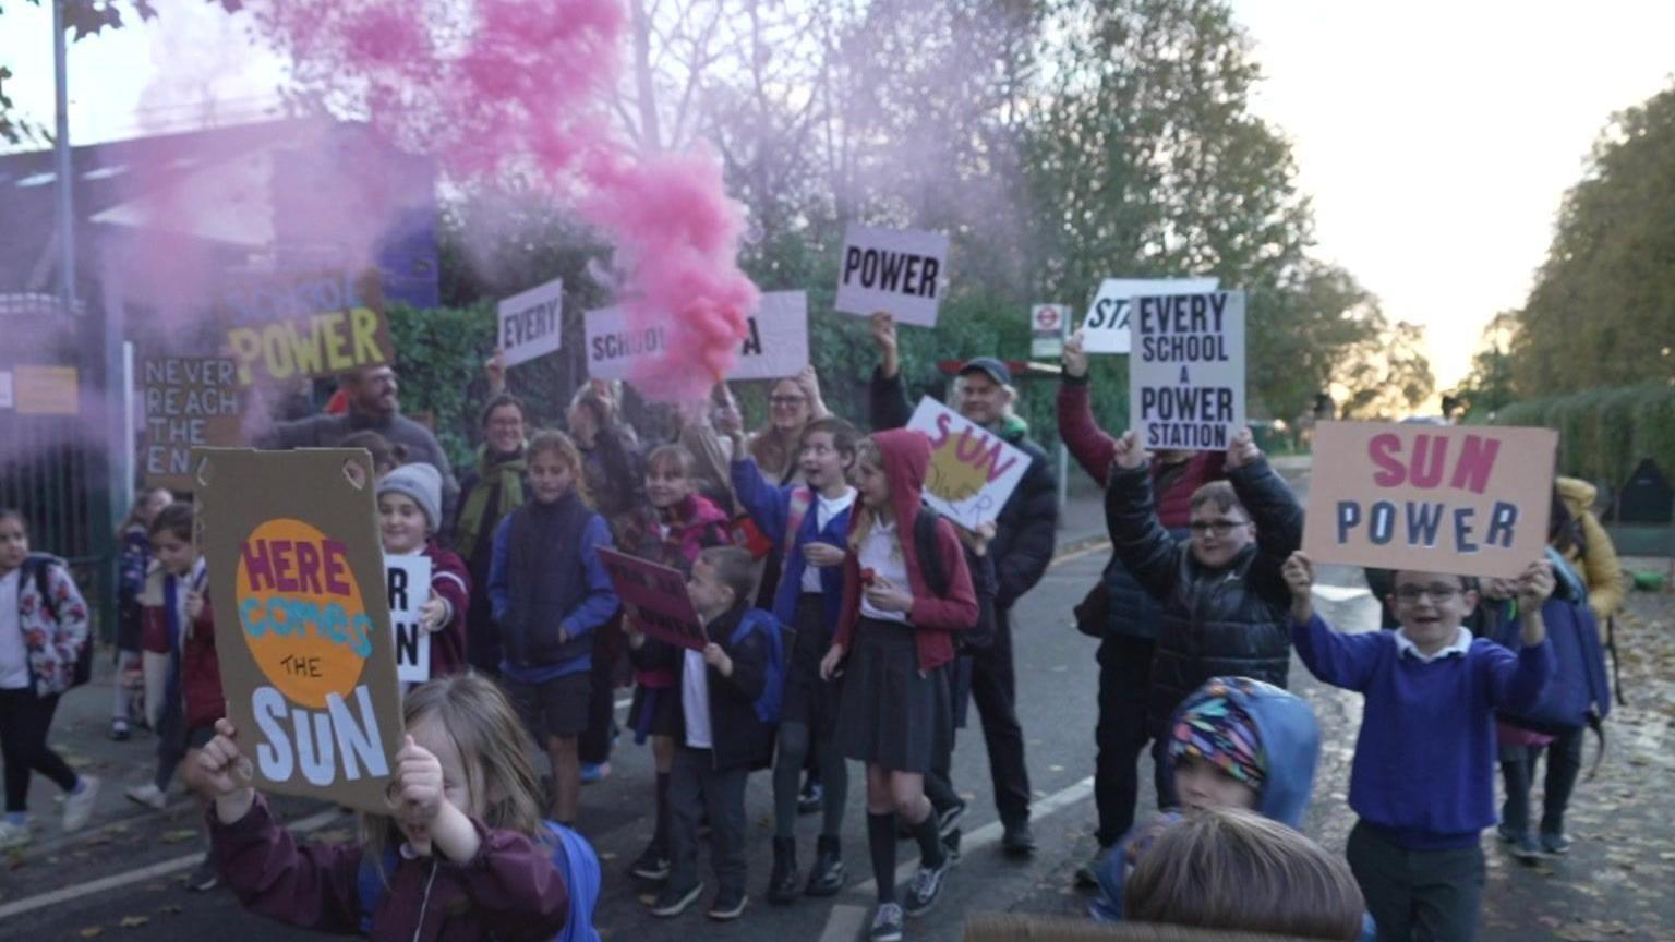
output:
M 300 69 L 360 96 L 375 127 L 462 179 L 524 174 L 610 233 L 618 302 L 662 325 L 636 386 L 705 394 L 739 354 L 755 285 L 742 216 L 709 153 L 640 154 L 605 101 L 618 80 L 620 0 L 266 0 L 258 13 Z

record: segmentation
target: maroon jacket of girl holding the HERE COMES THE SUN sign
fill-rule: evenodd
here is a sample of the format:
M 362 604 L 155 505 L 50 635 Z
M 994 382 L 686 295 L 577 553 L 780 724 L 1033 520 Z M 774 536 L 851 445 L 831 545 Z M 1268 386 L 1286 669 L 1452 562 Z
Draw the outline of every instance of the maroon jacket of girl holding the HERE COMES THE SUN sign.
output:
M 472 825 L 482 838 L 472 860 L 397 858 L 390 892 L 372 914 L 372 939 L 553 939 L 564 929 L 570 890 L 553 851 L 521 833 Z M 298 846 L 260 796 L 231 825 L 211 805 L 209 841 L 216 870 L 245 908 L 315 932 L 358 934 L 360 845 Z

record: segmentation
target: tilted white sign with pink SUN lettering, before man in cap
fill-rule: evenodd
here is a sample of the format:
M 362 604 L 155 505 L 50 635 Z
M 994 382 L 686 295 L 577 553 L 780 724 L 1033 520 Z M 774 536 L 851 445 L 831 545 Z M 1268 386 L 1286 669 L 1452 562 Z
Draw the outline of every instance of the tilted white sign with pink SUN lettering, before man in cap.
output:
M 966 530 L 1000 516 L 1030 468 L 1030 456 L 926 396 L 908 427 L 931 439 L 925 503 Z

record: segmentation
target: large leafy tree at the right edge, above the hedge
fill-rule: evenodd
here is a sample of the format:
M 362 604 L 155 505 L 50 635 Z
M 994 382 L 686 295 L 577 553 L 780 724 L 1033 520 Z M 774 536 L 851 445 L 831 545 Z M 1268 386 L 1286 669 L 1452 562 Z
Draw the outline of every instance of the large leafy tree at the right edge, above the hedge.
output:
M 1675 374 L 1675 87 L 1615 114 L 1513 337 L 1521 397 Z

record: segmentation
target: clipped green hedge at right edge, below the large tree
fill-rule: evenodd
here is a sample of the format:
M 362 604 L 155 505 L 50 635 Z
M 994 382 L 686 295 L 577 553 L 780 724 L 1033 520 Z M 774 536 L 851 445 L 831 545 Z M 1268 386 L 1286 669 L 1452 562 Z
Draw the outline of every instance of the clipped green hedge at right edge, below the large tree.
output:
M 1675 380 L 1514 402 L 1491 422 L 1558 429 L 1563 473 L 1613 491 L 1643 458 L 1675 473 Z

